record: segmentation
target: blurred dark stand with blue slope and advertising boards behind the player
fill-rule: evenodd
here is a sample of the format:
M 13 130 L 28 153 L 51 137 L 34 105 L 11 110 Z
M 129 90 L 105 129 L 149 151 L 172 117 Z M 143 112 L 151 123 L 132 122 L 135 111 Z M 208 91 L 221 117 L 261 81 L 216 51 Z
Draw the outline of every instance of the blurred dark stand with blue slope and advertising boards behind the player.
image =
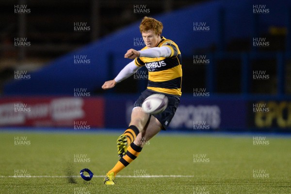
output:
M 291 132 L 291 2 L 1 0 L 0 126 L 124 129 L 147 84 L 142 68 L 102 84 L 142 49 L 144 16 L 182 53 L 169 130 Z

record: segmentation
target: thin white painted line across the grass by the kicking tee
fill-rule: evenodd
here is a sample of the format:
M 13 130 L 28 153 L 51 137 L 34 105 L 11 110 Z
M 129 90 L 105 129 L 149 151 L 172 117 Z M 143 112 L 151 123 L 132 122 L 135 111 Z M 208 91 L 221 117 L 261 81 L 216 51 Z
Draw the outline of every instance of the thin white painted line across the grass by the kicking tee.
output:
M 0 176 L 0 178 L 81 178 L 81 176 L 30 176 L 30 177 L 23 177 L 23 176 Z M 105 177 L 105 175 L 94 175 L 93 177 Z M 188 175 L 147 175 L 147 176 L 131 176 L 131 175 L 124 175 L 124 176 L 117 176 L 117 178 L 179 178 L 179 177 L 194 177 Z

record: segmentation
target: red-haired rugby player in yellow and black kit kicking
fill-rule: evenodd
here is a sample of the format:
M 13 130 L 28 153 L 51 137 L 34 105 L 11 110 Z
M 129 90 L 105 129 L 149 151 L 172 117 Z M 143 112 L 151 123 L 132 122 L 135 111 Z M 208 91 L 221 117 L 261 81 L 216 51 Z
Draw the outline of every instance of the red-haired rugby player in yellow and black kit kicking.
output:
M 162 28 L 160 21 L 144 17 L 140 31 L 146 46 L 139 51 L 129 49 L 124 57 L 132 61 L 113 80 L 106 81 L 102 86 L 104 90 L 111 89 L 144 65 L 148 70 L 147 89 L 134 104 L 128 129 L 117 139 L 117 153 L 121 158 L 106 174 L 104 183 L 107 185 L 115 184 L 116 174 L 138 157 L 148 140 L 167 129 L 180 102 L 181 53 L 178 45 L 162 36 Z M 168 97 L 167 108 L 155 115 L 144 113 L 141 104 L 155 93 Z

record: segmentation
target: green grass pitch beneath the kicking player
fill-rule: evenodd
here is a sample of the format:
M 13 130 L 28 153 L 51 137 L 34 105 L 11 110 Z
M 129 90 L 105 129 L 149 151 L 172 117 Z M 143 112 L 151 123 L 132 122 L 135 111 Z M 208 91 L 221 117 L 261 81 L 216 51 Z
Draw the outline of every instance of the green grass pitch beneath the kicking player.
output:
M 0 131 L 0 194 L 291 193 L 290 137 L 165 132 L 116 185 L 104 185 L 118 160 L 118 135 Z M 82 168 L 94 173 L 91 181 L 81 179 Z

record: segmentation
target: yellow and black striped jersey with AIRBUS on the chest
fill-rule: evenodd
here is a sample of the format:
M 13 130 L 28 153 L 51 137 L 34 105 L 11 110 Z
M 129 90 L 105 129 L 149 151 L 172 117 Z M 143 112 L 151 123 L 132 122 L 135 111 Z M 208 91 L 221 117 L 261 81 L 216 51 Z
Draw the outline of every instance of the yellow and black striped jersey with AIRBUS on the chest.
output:
M 173 41 L 161 37 L 157 47 L 168 46 L 171 49 L 170 57 L 138 57 L 134 62 L 137 66 L 146 66 L 148 70 L 147 89 L 175 96 L 181 96 L 182 65 L 181 52 Z M 145 46 L 141 50 L 145 50 Z

